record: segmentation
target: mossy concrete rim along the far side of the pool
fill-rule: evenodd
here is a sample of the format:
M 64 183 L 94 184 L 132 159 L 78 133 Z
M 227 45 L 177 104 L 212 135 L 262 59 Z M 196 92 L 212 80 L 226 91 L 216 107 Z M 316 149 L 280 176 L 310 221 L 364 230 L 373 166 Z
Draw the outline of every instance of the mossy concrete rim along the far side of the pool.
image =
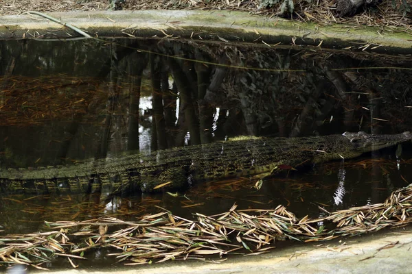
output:
M 87 31 L 93 37 L 168 37 L 260 45 L 312 45 L 410 53 L 412 37 L 385 27 L 301 23 L 247 12 L 142 10 L 115 12 L 50 12 L 50 16 Z M 41 16 L 0 16 L 0 38 L 73 38 L 67 27 Z M 367 47 L 363 47 L 367 46 Z

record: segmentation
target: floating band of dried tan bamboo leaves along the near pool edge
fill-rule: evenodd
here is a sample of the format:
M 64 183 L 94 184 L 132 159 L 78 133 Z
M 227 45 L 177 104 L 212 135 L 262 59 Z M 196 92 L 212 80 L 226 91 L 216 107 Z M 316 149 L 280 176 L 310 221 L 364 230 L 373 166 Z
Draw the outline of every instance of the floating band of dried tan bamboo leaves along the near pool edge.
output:
M 46 222 L 50 232 L 0 238 L 1 264 L 30 264 L 38 269 L 54 258 L 66 257 L 73 267 L 84 253 L 107 248 L 109 256 L 127 265 L 166 260 L 205 260 L 242 249 L 258 254 L 286 238 L 330 240 L 397 227 L 412 222 L 412 184 L 396 190 L 384 203 L 329 213 L 322 219 L 297 219 L 284 206 L 274 210 L 236 210 L 214 216 L 196 213 L 196 221 L 170 212 L 150 214 L 135 222 L 111 217 L 88 221 Z M 332 225 L 334 223 L 334 225 Z M 319 225 L 323 224 L 323 225 Z M 330 227 L 334 228 L 330 228 Z

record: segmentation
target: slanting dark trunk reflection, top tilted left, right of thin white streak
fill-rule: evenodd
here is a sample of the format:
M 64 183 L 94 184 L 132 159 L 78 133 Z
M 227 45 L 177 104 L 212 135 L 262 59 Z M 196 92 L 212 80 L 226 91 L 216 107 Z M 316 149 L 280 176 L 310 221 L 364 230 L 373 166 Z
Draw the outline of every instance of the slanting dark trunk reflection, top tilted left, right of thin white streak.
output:
M 201 144 L 201 136 L 199 134 L 198 120 L 196 118 L 194 104 L 192 102 L 192 92 L 190 90 L 190 83 L 187 81 L 185 73 L 181 70 L 179 64 L 172 59 L 168 59 L 168 64 L 172 71 L 174 82 L 181 99 L 181 106 L 185 112 L 186 125 L 189 128 L 190 141 L 192 145 Z

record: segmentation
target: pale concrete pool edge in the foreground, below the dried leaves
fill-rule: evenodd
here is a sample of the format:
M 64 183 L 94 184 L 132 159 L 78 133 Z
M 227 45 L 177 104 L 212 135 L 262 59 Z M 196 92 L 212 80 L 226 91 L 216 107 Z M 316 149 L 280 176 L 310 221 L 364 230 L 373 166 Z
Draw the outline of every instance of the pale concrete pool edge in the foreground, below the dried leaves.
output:
M 412 232 L 381 232 L 363 237 L 310 242 L 273 249 L 259 256 L 231 256 L 224 262 L 179 261 L 115 269 L 67 269 L 47 273 L 410 273 Z

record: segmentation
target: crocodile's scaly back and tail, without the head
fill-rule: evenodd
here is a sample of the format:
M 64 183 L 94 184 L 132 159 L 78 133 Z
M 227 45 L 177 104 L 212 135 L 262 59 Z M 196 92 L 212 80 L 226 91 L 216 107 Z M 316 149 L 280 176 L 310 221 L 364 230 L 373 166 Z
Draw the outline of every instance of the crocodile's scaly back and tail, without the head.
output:
M 149 155 L 135 153 L 68 166 L 3 169 L 0 171 L 1 188 L 3 192 L 22 188 L 87 192 L 101 186 L 118 188 L 133 183 L 138 188 L 151 189 L 163 180 L 174 177 L 179 177 L 182 181 L 184 176 L 192 179 L 216 179 L 252 175 L 271 171 L 279 164 L 294 166 L 301 162 L 311 162 L 313 151 L 316 151 L 319 144 L 310 141 L 299 145 L 302 140 L 253 138 L 165 149 Z M 163 176 L 159 179 L 165 171 L 172 171 L 172 178 Z M 178 176 L 178 173 L 182 173 L 182 176 Z M 178 185 L 184 183 L 179 182 Z

